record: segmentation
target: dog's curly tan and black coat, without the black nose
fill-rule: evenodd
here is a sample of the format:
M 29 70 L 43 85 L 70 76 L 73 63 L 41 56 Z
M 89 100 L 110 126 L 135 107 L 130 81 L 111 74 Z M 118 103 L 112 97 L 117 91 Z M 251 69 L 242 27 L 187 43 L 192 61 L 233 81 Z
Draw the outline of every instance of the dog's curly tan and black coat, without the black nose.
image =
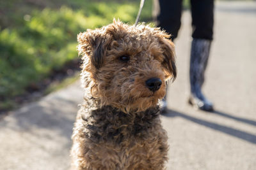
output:
M 152 92 L 145 81 L 176 77 L 168 38 L 158 28 L 115 20 L 77 36 L 86 94 L 72 135 L 74 169 L 164 169 L 167 135 L 157 103 L 166 85 Z

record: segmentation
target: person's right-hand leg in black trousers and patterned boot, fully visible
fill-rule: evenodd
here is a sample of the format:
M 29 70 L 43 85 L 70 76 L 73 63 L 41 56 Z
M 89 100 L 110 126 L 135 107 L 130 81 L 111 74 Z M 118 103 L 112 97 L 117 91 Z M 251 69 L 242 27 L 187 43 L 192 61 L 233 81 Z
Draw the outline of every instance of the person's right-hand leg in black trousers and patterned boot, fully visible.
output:
M 191 0 L 193 41 L 189 68 L 189 103 L 205 111 L 213 110 L 212 103 L 202 94 L 213 34 L 213 10 L 213 0 Z

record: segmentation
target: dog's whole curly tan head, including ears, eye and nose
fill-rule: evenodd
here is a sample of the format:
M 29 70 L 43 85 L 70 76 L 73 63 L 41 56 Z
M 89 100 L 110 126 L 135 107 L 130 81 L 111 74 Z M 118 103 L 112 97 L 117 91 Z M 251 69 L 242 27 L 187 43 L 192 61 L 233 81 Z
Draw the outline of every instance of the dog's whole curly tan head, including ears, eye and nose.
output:
M 168 35 L 147 25 L 122 22 L 80 33 L 82 81 L 101 106 L 144 111 L 166 93 L 176 77 L 174 45 Z

